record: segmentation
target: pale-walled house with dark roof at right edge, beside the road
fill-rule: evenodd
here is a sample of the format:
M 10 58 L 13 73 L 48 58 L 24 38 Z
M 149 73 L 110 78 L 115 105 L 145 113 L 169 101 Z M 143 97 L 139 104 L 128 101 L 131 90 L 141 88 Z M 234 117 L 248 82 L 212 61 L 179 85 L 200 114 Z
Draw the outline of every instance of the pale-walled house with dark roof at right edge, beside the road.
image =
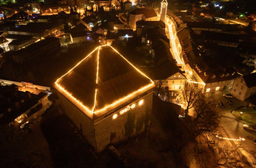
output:
M 256 73 L 250 73 L 234 79 L 230 94 L 243 101 L 256 93 Z

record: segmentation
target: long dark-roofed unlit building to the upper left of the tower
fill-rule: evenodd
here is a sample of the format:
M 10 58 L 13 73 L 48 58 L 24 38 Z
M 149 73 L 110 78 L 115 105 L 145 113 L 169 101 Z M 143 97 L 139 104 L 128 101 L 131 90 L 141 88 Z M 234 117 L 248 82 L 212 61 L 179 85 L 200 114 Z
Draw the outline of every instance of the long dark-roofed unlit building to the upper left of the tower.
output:
M 36 59 L 45 54 L 56 52 L 59 48 L 59 39 L 56 37 L 48 37 L 10 54 L 15 62 L 24 63 L 25 61 Z

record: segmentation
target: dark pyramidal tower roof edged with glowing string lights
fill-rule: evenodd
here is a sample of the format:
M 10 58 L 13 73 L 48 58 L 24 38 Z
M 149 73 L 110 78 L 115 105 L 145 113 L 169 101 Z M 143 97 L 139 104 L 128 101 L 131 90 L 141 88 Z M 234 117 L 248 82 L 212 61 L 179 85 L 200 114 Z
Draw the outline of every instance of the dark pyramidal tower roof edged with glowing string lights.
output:
M 94 119 L 155 87 L 155 83 L 110 45 L 99 46 L 54 87 Z

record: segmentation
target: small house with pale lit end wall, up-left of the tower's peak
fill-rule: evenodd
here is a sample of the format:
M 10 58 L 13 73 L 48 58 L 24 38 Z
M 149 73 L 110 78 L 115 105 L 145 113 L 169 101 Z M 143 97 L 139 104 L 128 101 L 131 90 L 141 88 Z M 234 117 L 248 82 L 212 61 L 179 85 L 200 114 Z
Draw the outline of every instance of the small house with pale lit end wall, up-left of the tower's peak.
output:
M 72 43 L 81 43 L 83 41 L 92 42 L 91 33 L 88 31 L 71 33 L 70 39 Z

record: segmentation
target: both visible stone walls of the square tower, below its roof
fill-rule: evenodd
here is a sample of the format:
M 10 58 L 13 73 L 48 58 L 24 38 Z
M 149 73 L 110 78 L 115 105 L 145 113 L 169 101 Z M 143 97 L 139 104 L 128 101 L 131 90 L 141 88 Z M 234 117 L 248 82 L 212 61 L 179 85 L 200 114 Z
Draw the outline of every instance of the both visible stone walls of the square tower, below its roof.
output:
M 58 95 L 66 115 L 74 122 L 78 130 L 83 133 L 95 150 L 101 152 L 107 145 L 121 142 L 144 130 L 145 124 L 147 124 L 145 118 L 149 119 L 148 116 L 152 111 L 153 90 L 147 91 L 147 93 L 149 94 L 129 104 L 130 106 L 135 104 L 134 108 L 130 108 L 130 110 L 120 115 L 120 110 L 129 106 L 126 105 L 97 123 L 93 123 L 91 119 L 59 92 Z M 139 101 L 142 99 L 143 104 L 139 105 Z M 113 119 L 115 114 L 118 116 L 116 119 Z M 126 131 L 129 129 L 128 127 L 130 129 L 133 128 L 132 131 L 130 130 L 130 133 Z

